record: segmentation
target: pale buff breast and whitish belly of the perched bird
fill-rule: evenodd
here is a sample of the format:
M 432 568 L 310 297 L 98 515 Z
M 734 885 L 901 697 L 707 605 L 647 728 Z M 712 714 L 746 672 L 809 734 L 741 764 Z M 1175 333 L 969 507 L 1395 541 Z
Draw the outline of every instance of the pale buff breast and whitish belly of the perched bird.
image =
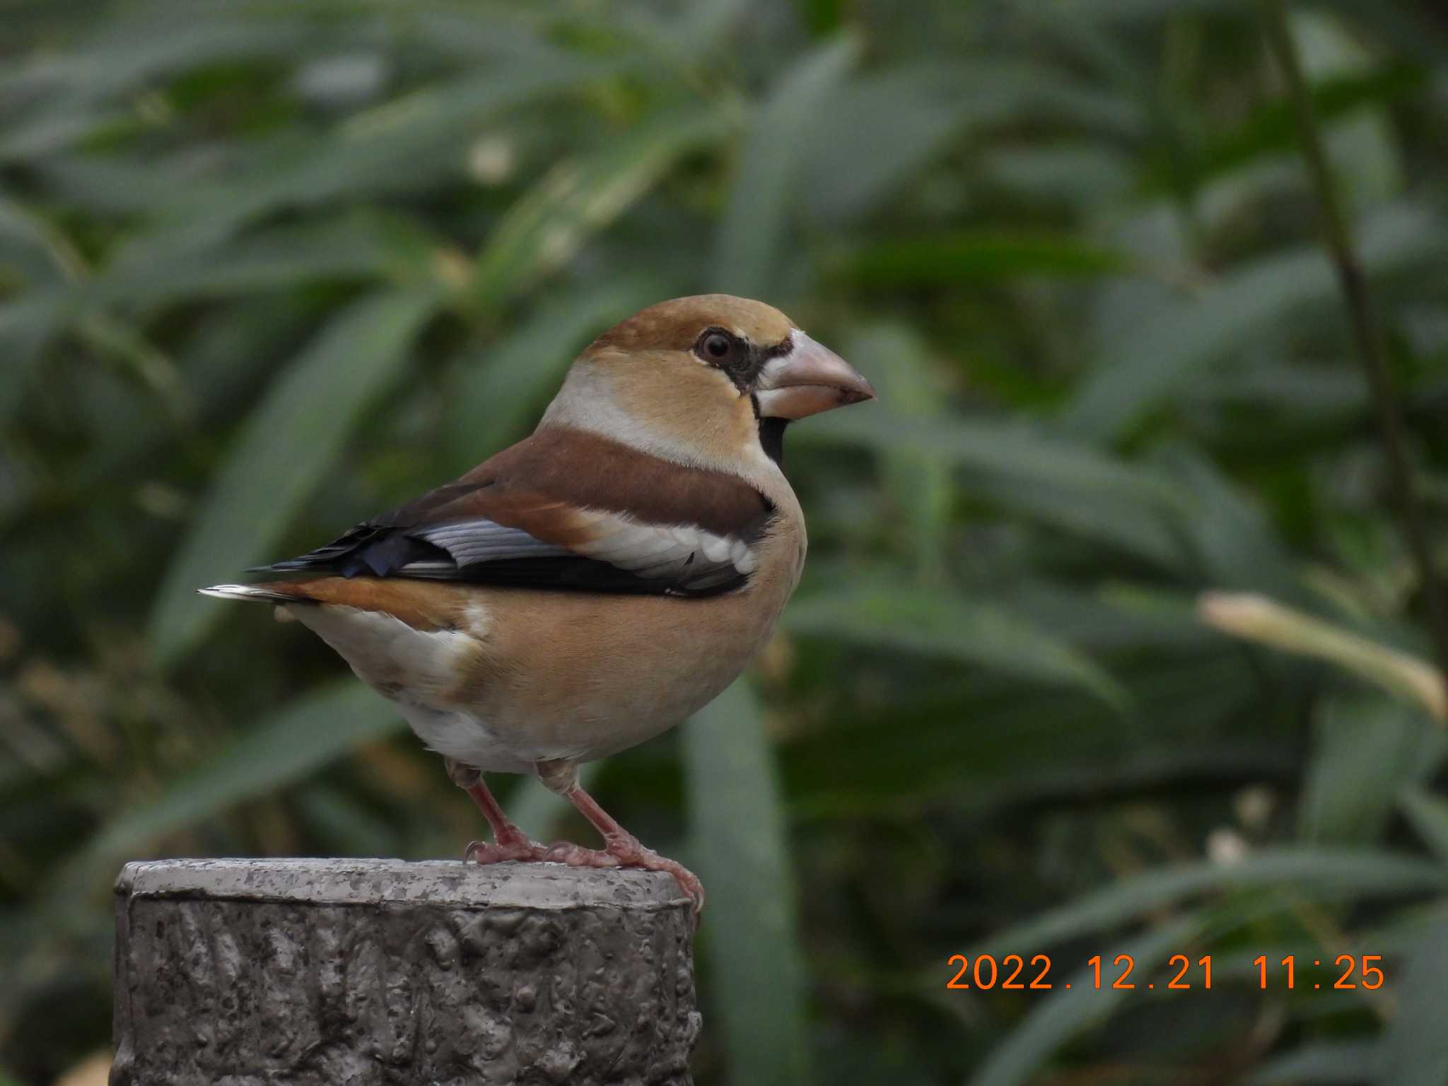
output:
M 376 611 L 288 610 L 432 749 L 484 770 L 588 762 L 672 728 L 743 672 L 773 631 L 804 566 L 798 504 L 759 544 L 750 585 L 702 599 L 455 584 L 417 586 L 443 628 Z

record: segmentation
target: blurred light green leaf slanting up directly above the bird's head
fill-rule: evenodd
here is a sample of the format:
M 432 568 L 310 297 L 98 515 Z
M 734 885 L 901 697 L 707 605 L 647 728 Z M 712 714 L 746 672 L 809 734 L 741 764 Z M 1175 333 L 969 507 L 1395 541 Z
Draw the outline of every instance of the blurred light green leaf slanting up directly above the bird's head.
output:
M 679 156 L 724 139 L 737 123 L 733 109 L 695 103 L 615 136 L 591 158 L 560 164 L 488 236 L 478 253 L 473 297 L 495 307 L 562 268 Z

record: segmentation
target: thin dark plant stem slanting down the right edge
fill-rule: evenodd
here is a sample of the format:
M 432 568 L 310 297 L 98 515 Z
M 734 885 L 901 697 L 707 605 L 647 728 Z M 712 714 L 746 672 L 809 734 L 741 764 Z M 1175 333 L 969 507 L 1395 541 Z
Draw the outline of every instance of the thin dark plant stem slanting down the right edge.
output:
M 1308 90 L 1308 83 L 1302 74 L 1302 64 L 1297 59 L 1297 46 L 1292 41 L 1292 32 L 1287 29 L 1286 3 L 1284 0 L 1258 0 L 1258 3 L 1267 28 L 1267 42 L 1277 64 L 1281 67 L 1293 111 L 1297 116 L 1297 139 L 1302 143 L 1302 153 L 1308 159 L 1312 187 L 1316 191 L 1318 211 L 1322 217 L 1322 230 L 1326 235 L 1328 252 L 1337 268 L 1342 297 L 1347 300 L 1348 314 L 1352 321 L 1352 339 L 1357 342 L 1358 356 L 1363 359 L 1368 387 L 1373 391 L 1373 404 L 1377 408 L 1378 434 L 1383 440 L 1383 450 L 1387 455 L 1387 475 L 1393 502 L 1397 505 L 1407 549 L 1418 566 L 1419 584 L 1423 591 L 1423 608 L 1428 615 L 1428 633 L 1434 643 L 1438 668 L 1444 675 L 1444 681 L 1448 682 L 1448 605 L 1444 602 L 1442 585 L 1434 569 L 1432 550 L 1428 546 L 1426 518 L 1423 517 L 1423 508 L 1418 501 L 1413 487 L 1412 462 L 1407 455 L 1407 430 L 1403 426 L 1403 416 L 1393 390 L 1393 376 L 1387 369 L 1383 334 L 1373 311 L 1373 300 L 1368 295 L 1363 265 L 1358 262 L 1357 252 L 1352 248 L 1352 236 L 1348 230 L 1347 216 L 1342 211 L 1342 201 L 1338 197 L 1332 171 L 1328 167 L 1328 156 L 1322 148 L 1322 130 L 1318 126 L 1318 117 L 1312 106 L 1312 93 Z

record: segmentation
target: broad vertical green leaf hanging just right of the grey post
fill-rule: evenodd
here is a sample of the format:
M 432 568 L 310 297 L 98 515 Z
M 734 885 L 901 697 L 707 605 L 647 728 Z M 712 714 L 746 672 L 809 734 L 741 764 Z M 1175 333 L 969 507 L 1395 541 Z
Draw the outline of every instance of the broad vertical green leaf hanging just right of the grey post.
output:
M 805 976 L 773 753 L 740 679 L 683 727 L 689 824 L 708 893 L 705 980 L 736 1086 L 808 1083 Z

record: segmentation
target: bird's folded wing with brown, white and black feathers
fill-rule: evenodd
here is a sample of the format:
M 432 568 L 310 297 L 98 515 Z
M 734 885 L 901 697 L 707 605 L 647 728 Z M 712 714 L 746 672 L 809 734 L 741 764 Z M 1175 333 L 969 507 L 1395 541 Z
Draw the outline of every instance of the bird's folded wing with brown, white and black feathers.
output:
M 747 584 L 772 517 L 734 475 L 552 427 L 264 569 L 712 595 Z

